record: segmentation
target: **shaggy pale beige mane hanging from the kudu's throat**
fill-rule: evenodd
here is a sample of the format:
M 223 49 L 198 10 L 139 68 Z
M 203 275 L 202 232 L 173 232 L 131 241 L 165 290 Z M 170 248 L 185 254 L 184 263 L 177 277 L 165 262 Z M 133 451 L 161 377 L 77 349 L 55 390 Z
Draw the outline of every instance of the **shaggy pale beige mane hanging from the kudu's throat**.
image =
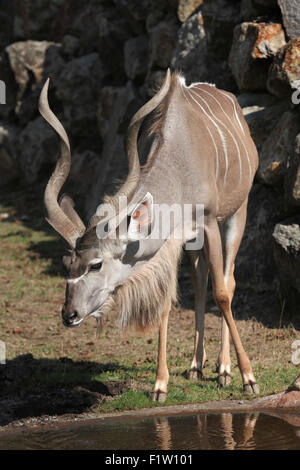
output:
M 177 269 L 182 241 L 165 241 L 153 258 L 113 294 L 122 329 L 157 327 L 169 300 L 177 299 Z

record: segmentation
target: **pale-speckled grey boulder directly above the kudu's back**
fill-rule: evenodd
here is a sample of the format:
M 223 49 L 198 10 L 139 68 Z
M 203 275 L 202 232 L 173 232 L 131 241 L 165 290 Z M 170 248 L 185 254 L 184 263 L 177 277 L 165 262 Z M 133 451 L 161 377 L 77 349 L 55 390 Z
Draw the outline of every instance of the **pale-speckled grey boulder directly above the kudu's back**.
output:
M 192 15 L 180 27 L 171 65 L 183 72 L 187 83 L 206 80 L 207 44 L 201 12 Z

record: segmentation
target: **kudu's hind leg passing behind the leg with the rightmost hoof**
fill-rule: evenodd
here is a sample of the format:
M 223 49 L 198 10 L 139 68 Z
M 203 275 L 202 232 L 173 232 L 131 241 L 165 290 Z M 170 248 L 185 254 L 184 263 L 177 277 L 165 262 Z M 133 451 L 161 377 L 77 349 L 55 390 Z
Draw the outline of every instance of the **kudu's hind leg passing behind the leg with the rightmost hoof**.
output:
M 222 226 L 221 237 L 224 254 L 224 280 L 229 295 L 233 299 L 235 290 L 234 263 L 245 230 L 247 200 L 239 210 Z M 218 382 L 223 387 L 231 383 L 230 336 L 225 318 L 222 317 L 221 349 L 217 362 Z

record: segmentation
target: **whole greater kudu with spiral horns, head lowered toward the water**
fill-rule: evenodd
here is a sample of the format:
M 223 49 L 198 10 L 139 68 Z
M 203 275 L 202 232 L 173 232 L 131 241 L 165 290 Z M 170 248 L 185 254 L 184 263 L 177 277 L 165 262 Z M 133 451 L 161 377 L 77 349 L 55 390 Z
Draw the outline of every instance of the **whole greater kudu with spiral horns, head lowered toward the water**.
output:
M 61 137 L 61 156 L 45 191 L 47 220 L 70 248 L 70 255 L 64 258 L 68 279 L 63 323 L 77 326 L 88 316 L 103 315 L 114 304 L 124 327 L 143 330 L 159 326 L 153 398 L 164 400 L 169 377 L 168 314 L 176 298 L 178 260 L 188 237 L 153 241 L 149 237 L 155 224 L 152 209 L 154 203 L 203 204 L 204 247 L 189 252 L 196 299 L 195 350 L 189 375 L 201 377 L 205 362 L 204 312 L 210 272 L 214 299 L 223 316 L 219 384 L 226 386 L 231 380 L 230 333 L 244 391 L 257 393 L 258 385 L 231 312 L 234 262 L 258 165 L 255 145 L 234 95 L 208 83 L 187 86 L 182 75 L 171 75 L 168 70 L 161 89 L 131 120 L 127 134 L 129 175 L 117 194 L 104 203 L 116 207 L 119 196 L 127 197 L 126 236 L 99 239 L 97 229 L 102 220 L 98 211 L 85 228 L 70 198 L 63 196 L 58 202 L 71 156 L 65 130 L 49 109 L 47 90 L 48 81 L 41 93 L 40 112 Z M 152 140 L 147 163 L 141 169 L 137 140 L 141 123 L 150 113 L 154 122 L 141 137 Z M 108 232 L 111 220 L 105 219 Z M 190 232 L 193 237 L 195 229 Z

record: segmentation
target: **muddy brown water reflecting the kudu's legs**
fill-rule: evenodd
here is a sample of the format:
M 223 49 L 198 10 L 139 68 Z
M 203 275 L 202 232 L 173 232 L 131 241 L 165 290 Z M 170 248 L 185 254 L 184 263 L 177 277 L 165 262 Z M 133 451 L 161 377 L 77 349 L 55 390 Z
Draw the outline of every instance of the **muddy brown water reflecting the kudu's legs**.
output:
M 300 450 L 298 413 L 199 413 L 0 434 L 4 449 Z

